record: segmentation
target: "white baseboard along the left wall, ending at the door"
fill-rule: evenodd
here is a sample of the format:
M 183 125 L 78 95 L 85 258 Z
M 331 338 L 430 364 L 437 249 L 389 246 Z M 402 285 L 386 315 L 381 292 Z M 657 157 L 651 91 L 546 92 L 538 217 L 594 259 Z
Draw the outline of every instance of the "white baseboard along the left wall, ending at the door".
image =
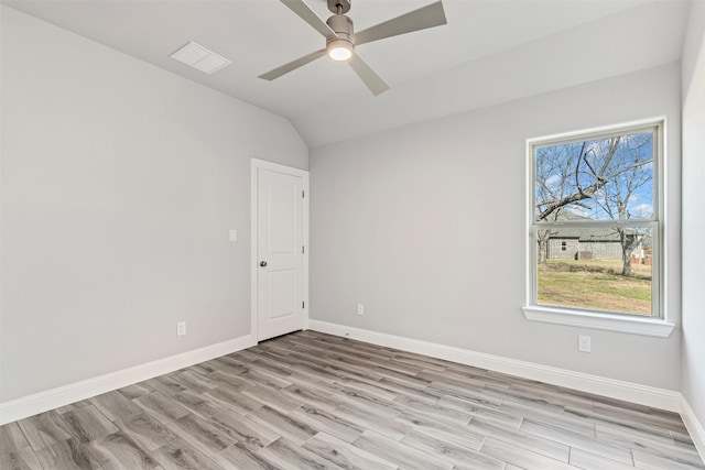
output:
M 257 345 L 252 335 L 0 403 L 0 426 Z

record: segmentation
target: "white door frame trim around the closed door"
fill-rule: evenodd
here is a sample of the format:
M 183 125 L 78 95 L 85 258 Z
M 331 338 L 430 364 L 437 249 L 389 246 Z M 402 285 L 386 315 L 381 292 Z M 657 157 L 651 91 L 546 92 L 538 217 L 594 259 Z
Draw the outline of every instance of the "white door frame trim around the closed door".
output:
M 304 190 L 303 198 L 303 243 L 304 243 L 304 259 L 303 259 L 303 293 L 302 298 L 304 302 L 303 313 L 303 329 L 308 329 L 308 172 L 306 170 L 294 168 L 279 163 L 268 162 L 265 160 L 250 159 L 250 335 L 258 341 L 258 295 L 259 295 L 259 281 L 258 281 L 258 266 L 259 258 L 257 253 L 258 241 L 258 171 L 268 170 L 270 172 L 283 173 L 285 175 L 299 176 L 302 179 L 302 186 Z

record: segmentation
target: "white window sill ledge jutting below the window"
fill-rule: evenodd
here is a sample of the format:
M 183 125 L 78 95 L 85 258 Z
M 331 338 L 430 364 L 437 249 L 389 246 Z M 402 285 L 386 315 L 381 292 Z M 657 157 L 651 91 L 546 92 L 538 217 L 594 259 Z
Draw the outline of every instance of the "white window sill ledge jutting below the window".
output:
M 531 305 L 522 307 L 522 310 L 529 321 L 594 328 L 657 338 L 668 338 L 673 328 L 675 328 L 674 324 L 662 319 L 576 311 L 567 308 Z

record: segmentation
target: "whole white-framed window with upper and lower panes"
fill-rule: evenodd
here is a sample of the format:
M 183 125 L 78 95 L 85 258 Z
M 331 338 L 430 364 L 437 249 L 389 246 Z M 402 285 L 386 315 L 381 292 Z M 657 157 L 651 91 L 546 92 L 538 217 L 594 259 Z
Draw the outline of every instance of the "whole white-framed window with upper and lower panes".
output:
M 529 142 L 532 240 L 525 313 L 662 319 L 662 128 L 653 123 Z

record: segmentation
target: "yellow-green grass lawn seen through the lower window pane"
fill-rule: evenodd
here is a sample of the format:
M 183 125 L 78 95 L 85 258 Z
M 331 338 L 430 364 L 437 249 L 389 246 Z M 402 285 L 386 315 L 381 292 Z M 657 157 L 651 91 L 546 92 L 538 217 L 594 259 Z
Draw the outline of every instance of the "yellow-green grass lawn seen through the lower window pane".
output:
M 539 303 L 651 315 L 651 266 L 620 261 L 549 260 L 539 264 Z

